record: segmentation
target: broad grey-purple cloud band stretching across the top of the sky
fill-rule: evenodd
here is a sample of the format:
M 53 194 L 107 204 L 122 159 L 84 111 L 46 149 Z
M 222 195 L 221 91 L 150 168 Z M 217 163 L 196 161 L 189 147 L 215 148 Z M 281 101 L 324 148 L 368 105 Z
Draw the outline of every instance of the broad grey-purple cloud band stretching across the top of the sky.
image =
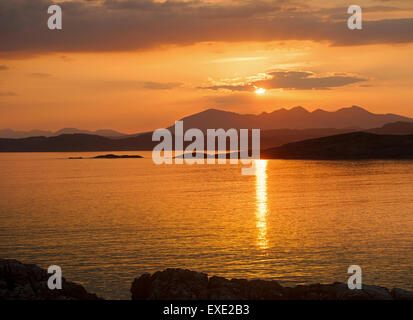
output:
M 313 40 L 340 46 L 413 42 L 413 17 L 408 15 L 365 19 L 363 30 L 352 31 L 345 8 L 329 12 L 304 1 L 296 3 L 66 1 L 60 3 L 63 30 L 51 31 L 46 22 L 52 1 L 6 0 L 0 4 L 0 52 L 127 51 L 215 41 Z

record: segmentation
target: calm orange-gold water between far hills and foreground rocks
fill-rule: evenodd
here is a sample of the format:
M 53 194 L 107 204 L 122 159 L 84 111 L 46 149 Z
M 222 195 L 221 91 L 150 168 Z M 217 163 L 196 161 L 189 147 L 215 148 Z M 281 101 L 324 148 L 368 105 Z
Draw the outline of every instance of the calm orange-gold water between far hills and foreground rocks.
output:
M 117 152 L 118 154 L 127 154 Z M 413 162 L 259 161 L 164 165 L 0 154 L 0 257 L 105 298 L 171 267 L 287 285 L 346 281 L 413 289 Z

